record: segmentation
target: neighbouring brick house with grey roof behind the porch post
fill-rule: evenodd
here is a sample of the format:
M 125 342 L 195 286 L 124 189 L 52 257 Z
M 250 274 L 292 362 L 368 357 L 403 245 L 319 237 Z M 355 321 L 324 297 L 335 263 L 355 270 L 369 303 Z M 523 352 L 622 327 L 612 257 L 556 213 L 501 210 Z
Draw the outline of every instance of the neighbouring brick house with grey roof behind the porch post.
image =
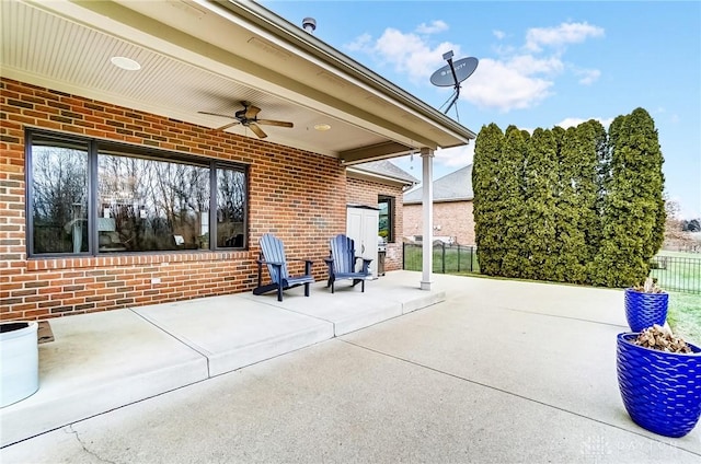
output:
M 474 245 L 472 216 L 472 164 L 440 177 L 434 187 L 434 235 L 460 245 Z M 422 235 L 421 187 L 404 194 L 403 233 L 405 237 Z

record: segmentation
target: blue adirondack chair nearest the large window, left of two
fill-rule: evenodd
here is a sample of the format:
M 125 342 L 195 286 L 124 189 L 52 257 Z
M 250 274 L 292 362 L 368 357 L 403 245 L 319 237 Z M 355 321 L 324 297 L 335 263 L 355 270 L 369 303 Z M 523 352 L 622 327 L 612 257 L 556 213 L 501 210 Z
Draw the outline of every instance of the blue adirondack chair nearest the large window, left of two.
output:
M 256 259 L 258 264 L 258 286 L 253 289 L 253 294 L 263 294 L 277 290 L 277 301 L 283 301 L 283 290 L 304 286 L 304 297 L 309 297 L 309 285 L 314 281 L 311 275 L 312 260 L 310 259 L 288 259 L 285 257 L 283 242 L 275 235 L 266 233 L 258 241 L 261 244 L 261 257 Z M 288 262 L 304 262 L 303 276 L 290 276 L 287 270 Z M 263 265 L 267 266 L 272 283 L 263 285 Z

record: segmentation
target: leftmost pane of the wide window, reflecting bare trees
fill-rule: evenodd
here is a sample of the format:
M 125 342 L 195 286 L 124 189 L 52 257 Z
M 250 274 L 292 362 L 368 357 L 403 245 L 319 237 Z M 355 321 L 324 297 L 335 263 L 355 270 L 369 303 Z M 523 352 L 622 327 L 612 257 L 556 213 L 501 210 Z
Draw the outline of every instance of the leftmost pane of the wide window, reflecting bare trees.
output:
M 88 152 L 32 146 L 34 253 L 88 251 Z

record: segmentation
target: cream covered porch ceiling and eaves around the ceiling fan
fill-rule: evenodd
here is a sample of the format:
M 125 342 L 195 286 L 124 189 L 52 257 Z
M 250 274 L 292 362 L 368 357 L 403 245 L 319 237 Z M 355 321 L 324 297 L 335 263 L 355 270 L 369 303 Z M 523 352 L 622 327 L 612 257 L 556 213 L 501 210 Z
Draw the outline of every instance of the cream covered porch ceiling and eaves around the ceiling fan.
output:
M 5 0 L 0 18 L 5 78 L 212 129 L 249 101 L 258 118 L 294 124 L 261 126 L 266 140 L 346 164 L 475 137 L 254 2 Z M 116 56 L 141 69 L 115 67 Z

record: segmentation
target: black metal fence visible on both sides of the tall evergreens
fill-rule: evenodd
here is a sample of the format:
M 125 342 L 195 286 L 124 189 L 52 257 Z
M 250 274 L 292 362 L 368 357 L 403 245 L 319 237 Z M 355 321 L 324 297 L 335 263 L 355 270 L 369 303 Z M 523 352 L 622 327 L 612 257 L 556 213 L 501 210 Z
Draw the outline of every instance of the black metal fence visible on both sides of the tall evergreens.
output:
M 480 272 L 476 246 L 448 245 L 436 242 L 434 269 L 436 274 Z M 423 251 L 420 243 L 404 243 L 404 269 L 421 270 Z M 655 256 L 650 275 L 665 290 L 701 293 L 701 258 Z

